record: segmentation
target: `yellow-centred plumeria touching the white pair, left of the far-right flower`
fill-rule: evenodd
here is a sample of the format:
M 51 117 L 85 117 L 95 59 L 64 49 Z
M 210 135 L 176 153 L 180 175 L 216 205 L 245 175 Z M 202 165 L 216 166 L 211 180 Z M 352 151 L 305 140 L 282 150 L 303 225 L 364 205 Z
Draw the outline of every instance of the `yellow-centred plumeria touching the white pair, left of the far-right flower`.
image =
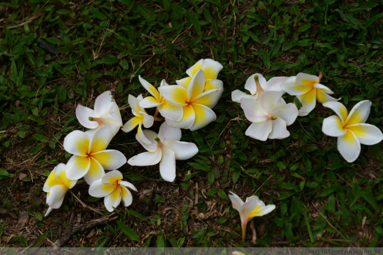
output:
M 323 104 L 327 101 L 337 101 L 340 99 L 328 95 L 333 92 L 319 83 L 321 78 L 322 74 L 317 77 L 300 72 L 297 76 L 289 77 L 281 84 L 282 90 L 290 95 L 297 96 L 302 104 L 302 107 L 299 109 L 299 116 L 305 116 L 311 112 L 315 108 L 317 100 Z

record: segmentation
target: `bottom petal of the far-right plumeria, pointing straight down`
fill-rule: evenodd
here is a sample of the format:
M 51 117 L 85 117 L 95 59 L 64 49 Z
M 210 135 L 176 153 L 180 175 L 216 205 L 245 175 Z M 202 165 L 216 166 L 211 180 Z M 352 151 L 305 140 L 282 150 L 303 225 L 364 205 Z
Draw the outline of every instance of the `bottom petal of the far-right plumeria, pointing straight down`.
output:
M 342 157 L 348 162 L 354 162 L 361 153 L 361 143 L 351 131 L 344 136 L 338 137 L 338 150 Z

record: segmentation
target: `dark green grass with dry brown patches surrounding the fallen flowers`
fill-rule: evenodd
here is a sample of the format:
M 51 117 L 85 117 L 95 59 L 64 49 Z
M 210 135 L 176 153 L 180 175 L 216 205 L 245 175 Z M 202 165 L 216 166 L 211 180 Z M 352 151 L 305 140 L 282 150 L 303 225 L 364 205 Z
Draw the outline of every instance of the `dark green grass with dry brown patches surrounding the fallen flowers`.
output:
M 59 210 L 42 217 L 46 176 L 70 157 L 64 137 L 82 129 L 78 104 L 92 107 L 111 90 L 124 107 L 129 94 L 146 93 L 138 75 L 174 84 L 201 58 L 223 64 L 225 91 L 213 109 L 216 122 L 182 131 L 199 154 L 177 162 L 174 183 L 159 180 L 158 166 L 124 165 L 119 170 L 139 190 L 133 204 L 120 205 L 117 220 L 76 232 L 64 245 L 382 246 L 381 143 L 362 145 L 361 156 L 347 163 L 336 139 L 321 132 L 323 118 L 333 113 L 320 105 L 289 127 L 289 138 L 252 140 L 230 96 L 255 72 L 267 79 L 323 72 L 321 83 L 348 110 L 371 100 L 368 123 L 382 130 L 381 7 L 376 0 L 0 3 L 0 246 L 52 246 L 76 224 L 101 217 L 70 193 Z M 126 122 L 130 109 L 122 116 Z M 119 132 L 109 148 L 127 158 L 143 151 L 133 132 Z M 87 188 L 72 191 L 106 212 Z M 229 191 L 276 205 L 254 219 L 256 243 L 251 227 L 241 241 Z

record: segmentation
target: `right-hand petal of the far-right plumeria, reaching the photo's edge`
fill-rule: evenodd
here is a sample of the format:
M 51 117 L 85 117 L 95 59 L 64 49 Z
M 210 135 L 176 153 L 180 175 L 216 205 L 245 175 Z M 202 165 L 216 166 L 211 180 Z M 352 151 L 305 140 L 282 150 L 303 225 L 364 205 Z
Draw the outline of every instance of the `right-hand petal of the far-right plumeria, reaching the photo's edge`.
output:
M 373 145 L 383 140 L 383 134 L 374 125 L 359 123 L 345 127 L 347 130 L 354 133 L 362 144 Z

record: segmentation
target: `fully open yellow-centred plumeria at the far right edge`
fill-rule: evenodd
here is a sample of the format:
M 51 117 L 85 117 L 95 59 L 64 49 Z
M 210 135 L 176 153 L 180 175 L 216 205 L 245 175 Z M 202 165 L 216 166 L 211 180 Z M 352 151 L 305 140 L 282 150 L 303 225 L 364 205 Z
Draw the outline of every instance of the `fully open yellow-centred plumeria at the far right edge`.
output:
M 349 163 L 355 161 L 361 153 L 361 143 L 373 145 L 381 142 L 383 134 L 374 125 L 366 124 L 370 114 L 371 101 L 357 103 L 350 114 L 344 105 L 329 101 L 323 106 L 333 110 L 336 115 L 323 120 L 322 132 L 328 136 L 338 137 L 338 150 Z

